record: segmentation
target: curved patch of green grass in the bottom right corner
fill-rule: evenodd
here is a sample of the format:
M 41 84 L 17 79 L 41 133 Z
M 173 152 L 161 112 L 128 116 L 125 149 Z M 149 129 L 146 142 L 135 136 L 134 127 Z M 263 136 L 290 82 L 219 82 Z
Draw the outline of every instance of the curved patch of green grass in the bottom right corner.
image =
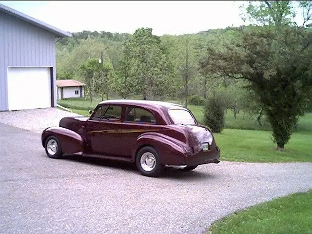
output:
M 312 191 L 275 198 L 216 221 L 206 234 L 312 234 Z

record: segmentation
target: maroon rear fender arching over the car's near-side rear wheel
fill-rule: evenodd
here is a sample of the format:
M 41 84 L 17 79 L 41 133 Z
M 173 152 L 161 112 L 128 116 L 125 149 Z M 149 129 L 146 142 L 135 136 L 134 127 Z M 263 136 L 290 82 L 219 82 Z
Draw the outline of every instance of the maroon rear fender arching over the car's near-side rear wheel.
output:
M 173 137 L 160 133 L 144 133 L 137 137 L 137 147 L 133 151 L 133 160 L 142 146 L 150 145 L 156 149 L 162 164 L 182 165 L 189 154 L 187 145 Z

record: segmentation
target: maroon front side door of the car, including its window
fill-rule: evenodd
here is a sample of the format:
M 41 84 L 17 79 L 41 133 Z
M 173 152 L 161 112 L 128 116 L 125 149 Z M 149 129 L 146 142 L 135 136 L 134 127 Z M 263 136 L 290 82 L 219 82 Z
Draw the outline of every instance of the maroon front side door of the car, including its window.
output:
M 122 107 L 120 105 L 100 105 L 87 120 L 89 152 L 106 156 L 118 154 Z

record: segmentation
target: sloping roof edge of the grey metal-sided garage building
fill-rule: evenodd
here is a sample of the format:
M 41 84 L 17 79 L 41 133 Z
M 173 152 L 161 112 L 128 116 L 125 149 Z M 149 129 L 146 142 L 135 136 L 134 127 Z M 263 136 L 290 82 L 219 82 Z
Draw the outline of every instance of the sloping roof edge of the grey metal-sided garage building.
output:
M 42 28 L 42 29 L 44 29 L 46 31 L 49 31 L 49 32 L 55 34 L 56 36 L 63 37 L 63 38 L 72 37 L 72 34 L 69 33 L 69 32 L 62 31 L 62 30 L 60 30 L 60 29 L 58 29 L 56 27 L 53 27 L 53 26 L 51 26 L 51 25 L 49 25 L 47 23 L 44 23 L 44 22 L 42 22 L 40 20 L 37 20 L 37 19 L 32 18 L 30 16 L 27 16 L 27 15 L 25 15 L 25 14 L 23 14 L 23 13 L 17 11 L 17 10 L 14 10 L 14 9 L 8 7 L 8 6 L 5 6 L 3 4 L 0 4 L 0 12 L 4 12 L 4 13 L 6 13 L 8 15 L 11 15 L 11 16 L 13 16 L 15 18 L 18 18 L 20 20 L 23 20 L 23 21 L 26 21 L 28 23 L 31 23 L 31 24 L 39 27 L 39 28 Z

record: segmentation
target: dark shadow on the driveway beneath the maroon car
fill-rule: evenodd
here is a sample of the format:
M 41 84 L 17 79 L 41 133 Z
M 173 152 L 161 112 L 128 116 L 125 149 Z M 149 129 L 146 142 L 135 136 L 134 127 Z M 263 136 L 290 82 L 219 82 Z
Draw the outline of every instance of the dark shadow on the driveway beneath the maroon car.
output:
M 108 160 L 97 157 L 84 157 L 84 156 L 64 156 L 62 160 L 75 161 L 85 164 L 92 164 L 99 167 L 108 167 L 108 168 L 116 168 L 122 169 L 128 172 L 134 172 L 139 174 L 135 163 L 127 163 L 122 161 Z M 198 180 L 198 179 L 207 179 L 214 178 L 214 175 L 210 175 L 209 173 L 202 173 L 196 171 L 184 172 L 182 170 L 166 167 L 163 171 L 163 174 L 159 176 L 159 178 L 164 179 L 178 179 L 178 180 Z

